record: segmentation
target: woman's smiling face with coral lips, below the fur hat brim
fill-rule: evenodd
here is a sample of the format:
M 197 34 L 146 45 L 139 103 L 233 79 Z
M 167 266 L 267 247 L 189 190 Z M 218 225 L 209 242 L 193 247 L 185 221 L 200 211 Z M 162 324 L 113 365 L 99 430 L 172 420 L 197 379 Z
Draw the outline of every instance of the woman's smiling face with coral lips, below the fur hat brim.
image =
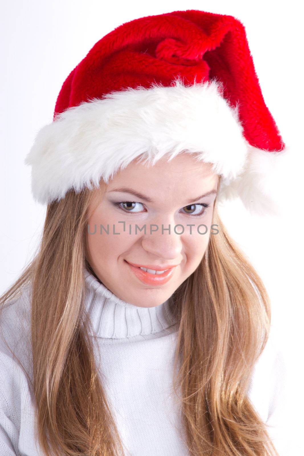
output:
M 211 165 L 188 153 L 117 172 L 88 221 L 88 262 L 103 285 L 135 306 L 165 302 L 205 253 L 217 183 Z

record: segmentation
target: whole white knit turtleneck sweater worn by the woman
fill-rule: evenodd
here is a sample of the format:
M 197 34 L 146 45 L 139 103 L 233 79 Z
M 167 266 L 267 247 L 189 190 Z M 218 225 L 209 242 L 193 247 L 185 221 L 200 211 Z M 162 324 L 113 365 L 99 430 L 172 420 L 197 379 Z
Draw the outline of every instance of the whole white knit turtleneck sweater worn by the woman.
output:
M 172 389 L 178 325 L 168 301 L 144 308 L 121 301 L 85 271 L 86 306 L 97 335 L 103 385 L 126 456 L 187 456 Z M 3 336 L 31 373 L 30 286 L 3 310 L 0 336 L 0 456 L 43 456 L 34 440 L 34 399 Z M 97 348 L 95 346 L 95 348 Z M 96 351 L 97 355 L 97 351 Z M 256 364 L 249 396 L 287 456 L 284 364 L 272 339 Z

